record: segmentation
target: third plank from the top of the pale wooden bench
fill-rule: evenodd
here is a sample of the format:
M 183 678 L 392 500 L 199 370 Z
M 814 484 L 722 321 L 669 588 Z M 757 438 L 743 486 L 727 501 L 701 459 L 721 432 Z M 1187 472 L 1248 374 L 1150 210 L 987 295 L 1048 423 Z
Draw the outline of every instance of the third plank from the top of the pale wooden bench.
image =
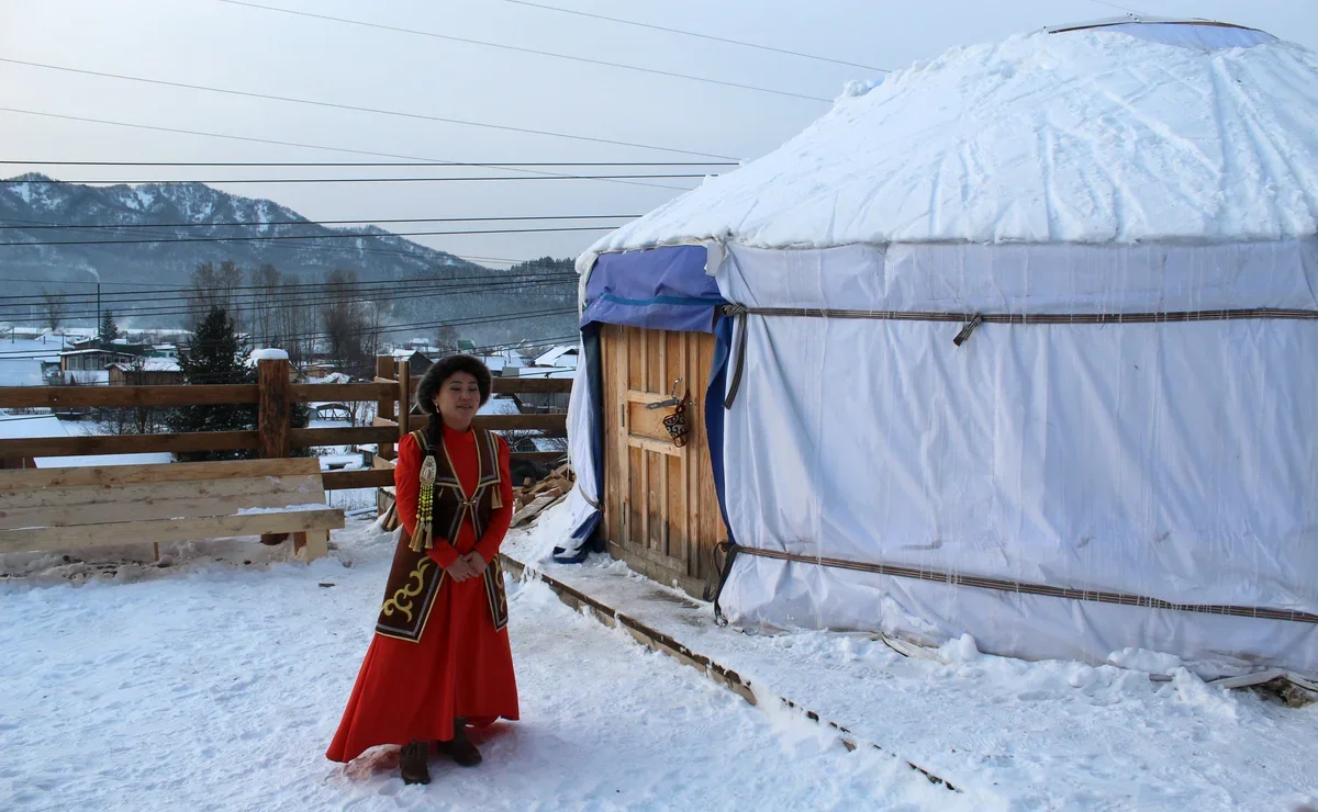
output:
M 301 478 L 301 484 L 310 486 L 306 492 L 299 492 L 295 487 L 270 487 L 269 480 L 229 480 L 245 482 L 265 487 L 240 494 L 211 495 L 203 494 L 206 482 L 175 484 L 174 488 L 188 488 L 192 495 L 178 495 L 173 497 L 158 497 L 142 495 L 142 490 L 157 488 L 158 486 L 137 486 L 136 494 L 127 494 L 125 488 L 111 491 L 120 499 L 101 501 L 79 503 L 76 491 L 98 491 L 98 488 L 53 488 L 55 494 L 71 495 L 71 499 L 58 505 L 40 507 L 9 507 L 0 508 L 0 530 L 14 530 L 18 528 L 71 528 L 100 525 L 120 521 L 144 521 L 157 519 L 175 519 L 186 516 L 188 519 L 202 519 L 208 516 L 233 516 L 248 508 L 286 508 L 302 504 L 324 504 L 324 490 L 319 479 L 310 476 Z M 192 486 L 198 487 L 192 487 Z M 291 486 L 289 480 L 279 483 Z M 38 491 L 40 492 L 40 491 Z M 50 494 L 51 491 L 45 491 Z

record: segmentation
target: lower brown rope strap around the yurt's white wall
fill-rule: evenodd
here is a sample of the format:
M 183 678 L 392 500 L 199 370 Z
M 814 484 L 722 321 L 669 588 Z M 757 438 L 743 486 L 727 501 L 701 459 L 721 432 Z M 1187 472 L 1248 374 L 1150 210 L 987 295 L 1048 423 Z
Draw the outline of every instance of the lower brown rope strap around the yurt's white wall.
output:
M 726 542 L 725 542 L 726 544 Z M 776 558 L 779 561 L 795 561 L 800 563 L 813 563 L 821 567 L 837 567 L 840 570 L 854 570 L 859 572 L 875 572 L 878 575 L 892 575 L 896 578 L 913 578 L 917 580 L 931 580 L 949 586 L 978 587 L 982 590 L 998 590 L 1000 592 L 1016 592 L 1020 595 L 1044 595 L 1046 597 L 1068 597 L 1072 600 L 1089 600 L 1094 603 L 1111 603 L 1127 607 L 1144 607 L 1148 609 L 1176 609 L 1178 612 L 1199 612 L 1203 615 L 1231 615 L 1235 617 L 1260 617 L 1265 620 L 1292 620 L 1296 622 L 1318 624 L 1318 615 L 1309 612 L 1296 612 L 1292 609 L 1269 609 L 1264 607 L 1232 607 L 1214 604 L 1186 604 L 1172 603 L 1159 597 L 1145 597 L 1143 595 L 1127 595 L 1124 592 L 1103 592 L 1099 590 L 1073 590 L 1068 587 L 1049 587 L 1045 584 L 1028 583 L 1021 580 L 1006 580 L 1000 578 L 981 578 L 978 575 L 961 575 L 957 572 L 944 572 L 917 567 L 905 567 L 884 563 L 869 563 L 862 561 L 847 561 L 845 558 L 822 558 L 815 555 L 800 555 L 796 553 L 782 553 L 779 550 L 764 550 L 759 547 L 743 547 L 730 544 L 726 559 L 726 569 L 730 569 L 733 557 L 738 554 L 758 555 L 760 558 Z M 728 575 L 724 572 L 720 580 Z M 717 612 L 717 603 L 716 612 Z

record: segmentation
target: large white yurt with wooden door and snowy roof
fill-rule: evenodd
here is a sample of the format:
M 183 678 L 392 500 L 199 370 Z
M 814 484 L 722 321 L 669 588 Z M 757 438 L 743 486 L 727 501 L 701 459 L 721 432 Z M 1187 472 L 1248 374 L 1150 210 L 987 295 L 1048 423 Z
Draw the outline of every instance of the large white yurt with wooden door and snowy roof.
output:
M 561 559 L 749 628 L 1318 672 L 1314 53 L 957 47 L 577 268 Z

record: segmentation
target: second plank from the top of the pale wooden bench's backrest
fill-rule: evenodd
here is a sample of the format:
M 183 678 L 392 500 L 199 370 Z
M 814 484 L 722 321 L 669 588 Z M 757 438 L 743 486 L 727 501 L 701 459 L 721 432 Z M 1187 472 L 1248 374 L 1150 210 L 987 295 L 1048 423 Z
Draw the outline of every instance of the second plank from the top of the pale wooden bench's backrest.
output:
M 4 504 L 0 504 L 0 515 L 12 515 L 20 508 L 50 511 L 70 505 L 132 504 L 178 499 L 252 499 L 266 494 L 278 494 L 281 499 L 290 499 L 283 504 L 310 504 L 324 501 L 322 491 L 324 488 L 320 486 L 319 474 L 0 490 L 0 496 L 4 499 Z M 229 513 L 232 512 L 229 511 Z

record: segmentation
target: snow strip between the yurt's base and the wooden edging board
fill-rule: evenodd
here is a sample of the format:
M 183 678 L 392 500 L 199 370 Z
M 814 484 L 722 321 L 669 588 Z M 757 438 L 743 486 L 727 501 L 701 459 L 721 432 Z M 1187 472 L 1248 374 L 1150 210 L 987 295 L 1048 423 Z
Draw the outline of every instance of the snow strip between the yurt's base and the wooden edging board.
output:
M 1170 672 L 1170 682 L 992 657 L 969 637 L 925 659 L 866 634 L 738 633 L 714 625 L 710 604 L 609 557 L 552 563 L 569 524 L 559 505 L 534 532 L 514 530 L 503 550 L 737 671 L 757 696 L 787 698 L 1012 808 L 1290 809 L 1318 800 L 1318 705 L 1214 688 L 1153 653 L 1118 659 Z

